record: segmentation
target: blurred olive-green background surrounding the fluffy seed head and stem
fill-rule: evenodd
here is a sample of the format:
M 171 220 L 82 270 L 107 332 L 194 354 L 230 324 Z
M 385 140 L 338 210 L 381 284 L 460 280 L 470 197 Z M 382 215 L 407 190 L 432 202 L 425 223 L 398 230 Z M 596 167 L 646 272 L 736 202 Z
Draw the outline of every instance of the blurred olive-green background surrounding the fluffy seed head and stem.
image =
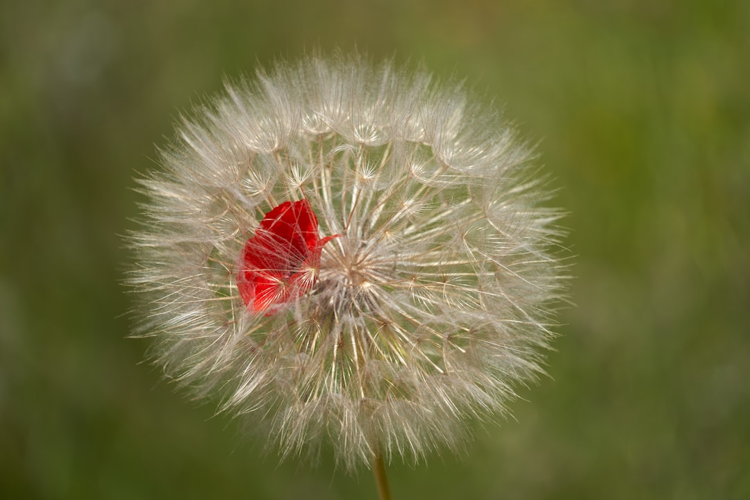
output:
M 377 498 L 175 394 L 119 284 L 178 114 L 353 46 L 496 96 L 576 256 L 550 378 L 395 498 L 750 498 L 750 2 L 5 0 L 0 40 L 0 498 Z

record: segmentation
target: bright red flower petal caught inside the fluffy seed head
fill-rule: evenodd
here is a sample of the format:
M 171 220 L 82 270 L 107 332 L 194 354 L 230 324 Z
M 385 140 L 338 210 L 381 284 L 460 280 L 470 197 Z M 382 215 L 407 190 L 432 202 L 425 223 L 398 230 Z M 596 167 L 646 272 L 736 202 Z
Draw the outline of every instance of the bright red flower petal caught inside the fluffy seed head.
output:
M 237 286 L 248 309 L 272 314 L 308 292 L 317 279 L 323 245 L 338 236 L 319 238 L 318 219 L 307 199 L 272 208 L 242 250 Z

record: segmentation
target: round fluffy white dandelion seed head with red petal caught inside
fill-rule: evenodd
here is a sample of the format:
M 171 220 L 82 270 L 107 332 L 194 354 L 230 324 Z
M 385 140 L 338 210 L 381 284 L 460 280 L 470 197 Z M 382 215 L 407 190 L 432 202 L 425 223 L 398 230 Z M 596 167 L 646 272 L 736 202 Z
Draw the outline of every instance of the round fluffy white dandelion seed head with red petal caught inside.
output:
M 457 448 L 535 379 L 559 211 L 492 109 L 361 56 L 278 64 L 184 120 L 133 234 L 154 361 L 283 456 Z

